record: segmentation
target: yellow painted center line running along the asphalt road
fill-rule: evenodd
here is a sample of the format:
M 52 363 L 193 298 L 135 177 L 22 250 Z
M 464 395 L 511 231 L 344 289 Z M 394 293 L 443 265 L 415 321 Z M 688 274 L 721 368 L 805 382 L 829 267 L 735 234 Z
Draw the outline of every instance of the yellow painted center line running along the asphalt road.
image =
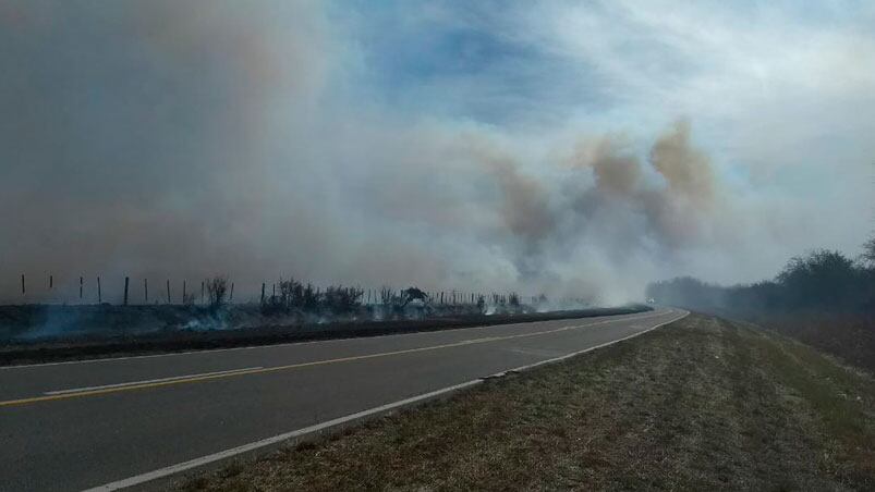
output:
M 277 371 L 284 371 L 290 369 L 300 369 L 305 367 L 315 367 L 315 366 L 326 366 L 329 364 L 339 364 L 339 362 L 351 362 L 354 360 L 366 360 L 366 359 L 374 359 L 378 357 L 391 357 L 396 355 L 402 354 L 415 354 L 418 352 L 428 352 L 428 350 L 438 350 L 441 348 L 452 348 L 452 347 L 460 347 L 464 345 L 474 345 L 481 343 L 488 343 L 488 342 L 499 342 L 505 340 L 513 340 L 513 339 L 524 339 L 528 336 L 539 336 L 546 335 L 550 333 L 558 333 L 567 330 L 574 330 L 579 328 L 585 327 L 595 327 L 597 324 L 606 324 L 617 321 L 629 321 L 630 319 L 644 319 L 644 318 L 652 318 L 655 316 L 663 316 L 666 315 L 665 312 L 660 312 L 658 315 L 647 315 L 636 318 L 624 318 L 618 320 L 606 320 L 599 321 L 595 323 L 587 323 L 587 324 L 575 324 L 570 327 L 562 327 L 556 328 L 552 330 L 545 330 L 532 333 L 521 333 L 517 335 L 503 335 L 503 336 L 487 336 L 483 339 L 471 339 L 471 340 L 463 340 L 461 342 L 454 343 L 447 343 L 441 345 L 429 345 L 426 347 L 416 347 L 416 348 L 405 348 L 403 350 L 392 350 L 392 352 L 381 352 L 377 354 L 366 354 L 366 355 L 356 355 L 350 357 L 339 357 L 335 359 L 325 359 L 325 360 L 314 360 L 311 362 L 297 362 L 297 364 L 289 364 L 285 366 L 274 366 L 274 367 L 266 367 L 266 368 L 254 368 L 254 369 L 246 369 L 236 372 L 227 372 L 227 373 L 218 373 L 218 374 L 208 374 L 208 376 L 198 376 L 194 378 L 185 378 L 185 379 L 174 379 L 169 381 L 157 381 L 150 383 L 143 383 L 143 384 L 132 384 L 125 386 L 118 386 L 118 388 L 104 388 L 99 390 L 88 390 L 88 391 L 81 391 L 75 393 L 62 393 L 62 394 L 52 394 L 52 395 L 45 395 L 45 396 L 33 396 L 28 398 L 20 398 L 20 399 L 9 399 L 5 402 L 0 402 L 0 407 L 11 407 L 17 405 L 27 405 L 32 403 L 39 403 L 39 402 L 53 402 L 58 399 L 70 399 L 70 398 L 80 398 L 84 396 L 95 396 L 95 395 L 102 395 L 108 393 L 121 393 L 124 391 L 134 391 L 134 390 L 143 390 L 147 388 L 160 388 L 160 386 L 170 386 L 174 384 L 186 384 L 186 383 L 195 383 L 200 381 L 209 381 L 209 380 L 217 380 L 217 379 L 224 379 L 224 378 L 234 378 L 239 376 L 248 376 L 248 374 L 262 374 L 267 372 L 277 372 Z

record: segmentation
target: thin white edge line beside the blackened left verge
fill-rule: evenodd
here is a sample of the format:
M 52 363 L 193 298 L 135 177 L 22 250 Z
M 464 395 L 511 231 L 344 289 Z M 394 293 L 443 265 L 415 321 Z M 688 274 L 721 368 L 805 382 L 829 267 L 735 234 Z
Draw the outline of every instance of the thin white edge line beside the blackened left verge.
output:
M 130 360 L 130 359 L 150 359 L 156 357 L 174 357 L 180 355 L 193 355 L 193 354 L 214 354 L 217 352 L 231 352 L 231 350 L 252 350 L 256 348 L 270 348 L 270 347 L 288 347 L 291 345 L 309 345 L 314 343 L 326 343 L 326 342 L 348 342 L 350 340 L 364 340 L 364 339 L 379 339 L 382 336 L 397 336 L 397 335 L 427 335 L 434 334 L 437 332 L 448 332 L 448 331 L 457 331 L 457 330 L 484 330 L 487 328 L 496 328 L 496 327 L 511 327 L 514 324 L 527 324 L 527 323 L 542 323 L 542 322 L 550 322 L 550 321 L 571 321 L 575 319 L 598 319 L 598 318 L 612 318 L 612 319 L 637 319 L 636 315 L 654 315 L 654 313 L 661 313 L 656 310 L 651 311 L 639 311 L 639 312 L 630 312 L 628 315 L 603 315 L 603 316 L 593 316 L 590 318 L 559 318 L 552 320 L 542 320 L 542 321 L 519 321 L 515 323 L 503 323 L 503 324 L 481 324 L 476 327 L 461 327 L 461 328 L 448 328 L 448 329 L 438 329 L 438 330 L 420 330 L 413 332 L 399 332 L 399 333 L 388 333 L 385 335 L 376 335 L 376 336 L 347 336 L 343 339 L 326 339 L 326 340 L 309 340 L 304 342 L 287 342 L 287 343 L 277 343 L 277 344 L 267 344 L 267 345 L 247 345 L 245 347 L 228 347 L 228 348 L 205 348 L 202 350 L 187 350 L 187 352 L 168 352 L 166 354 L 148 354 L 148 355 L 131 355 L 125 357 L 104 357 L 104 358 L 96 358 L 96 359 L 84 359 L 84 360 L 61 360 L 58 362 L 41 362 L 41 364 L 20 364 L 16 366 L 0 366 L 0 371 L 8 370 L 8 369 L 28 369 L 28 368 L 39 368 L 39 367 L 50 367 L 50 366 L 66 366 L 71 364 L 96 364 L 96 362 L 111 362 L 114 360 Z M 624 318 L 620 318 L 624 317 Z M 647 316 L 641 316 L 641 318 L 646 318 Z

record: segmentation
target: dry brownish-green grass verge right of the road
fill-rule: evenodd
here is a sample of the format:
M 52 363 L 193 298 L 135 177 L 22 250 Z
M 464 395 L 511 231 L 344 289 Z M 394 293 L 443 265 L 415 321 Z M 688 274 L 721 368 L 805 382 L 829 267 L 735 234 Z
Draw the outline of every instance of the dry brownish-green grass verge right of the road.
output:
M 875 490 L 875 384 L 691 315 L 177 490 Z

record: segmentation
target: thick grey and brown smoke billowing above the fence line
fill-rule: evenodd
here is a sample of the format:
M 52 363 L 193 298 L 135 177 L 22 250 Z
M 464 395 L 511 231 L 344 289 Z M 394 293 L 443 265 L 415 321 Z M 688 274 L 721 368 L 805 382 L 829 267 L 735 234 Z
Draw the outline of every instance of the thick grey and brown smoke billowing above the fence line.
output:
M 28 302 L 75 302 L 80 275 L 116 302 L 124 275 L 224 273 L 241 300 L 284 275 L 609 304 L 680 273 L 768 276 L 799 247 L 800 213 L 739 194 L 697 114 L 630 136 L 398 108 L 367 88 L 352 16 L 0 0 L 0 303 L 21 273 Z

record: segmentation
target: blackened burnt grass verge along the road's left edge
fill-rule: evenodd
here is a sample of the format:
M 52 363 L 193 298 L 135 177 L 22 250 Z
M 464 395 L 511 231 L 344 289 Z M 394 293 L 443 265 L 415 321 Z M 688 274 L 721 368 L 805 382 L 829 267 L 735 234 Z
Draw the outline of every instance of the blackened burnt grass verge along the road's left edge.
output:
M 42 310 L 40 310 L 42 309 Z M 148 355 L 172 352 L 232 348 L 255 345 L 307 342 L 397 333 L 450 330 L 488 324 L 509 324 L 555 319 L 591 318 L 651 310 L 648 306 L 592 308 L 532 313 L 474 315 L 453 313 L 421 319 L 384 321 L 342 321 L 324 323 L 282 323 L 256 318 L 253 325 L 224 330 L 181 329 L 187 320 L 208 318 L 206 308 L 192 306 L 0 306 L 0 327 L 34 325 L 46 318 L 46 309 L 64 315 L 74 311 L 76 324 L 92 331 L 72 332 L 28 340 L 0 337 L 0 366 L 38 364 L 87 358 Z M 254 308 L 255 309 L 255 308 Z M 256 309 L 257 310 L 257 309 Z M 58 316 L 60 316 L 58 315 Z M 240 316 L 240 312 L 231 312 Z M 69 313 L 66 313 L 69 316 Z M 144 325 L 165 329 L 143 332 Z M 23 330 L 22 330 L 23 332 Z

